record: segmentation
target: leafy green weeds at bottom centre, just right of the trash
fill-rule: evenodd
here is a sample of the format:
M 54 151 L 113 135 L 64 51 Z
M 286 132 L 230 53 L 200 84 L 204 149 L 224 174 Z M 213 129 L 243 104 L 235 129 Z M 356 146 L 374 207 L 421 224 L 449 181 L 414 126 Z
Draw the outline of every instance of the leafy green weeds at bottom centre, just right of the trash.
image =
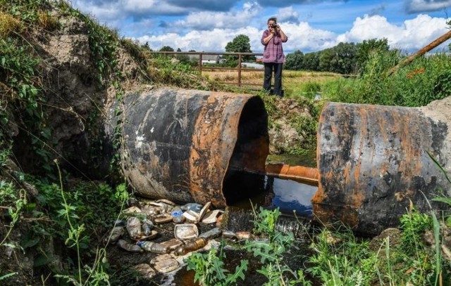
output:
M 259 239 L 246 240 L 245 245 L 239 247 L 251 252 L 256 259 L 259 259 L 261 268 L 257 269 L 257 273 L 268 279 L 263 285 L 311 285 L 311 282 L 304 278 L 302 270 L 293 271 L 284 261 L 284 255 L 289 253 L 292 246 L 293 234 L 276 230 L 280 211 L 261 208 L 258 213 L 254 211 L 254 216 L 254 234 L 258 235 Z M 225 275 L 227 271 L 223 268 L 225 258 L 223 243 L 225 243 L 224 240 L 219 247 L 219 256 L 218 251 L 212 248 L 205 254 L 197 253 L 188 257 L 187 269 L 195 271 L 194 280 L 201 282 L 204 286 L 240 285 L 237 278 L 245 280 L 249 264 L 249 261 L 245 259 L 236 266 L 235 273 Z

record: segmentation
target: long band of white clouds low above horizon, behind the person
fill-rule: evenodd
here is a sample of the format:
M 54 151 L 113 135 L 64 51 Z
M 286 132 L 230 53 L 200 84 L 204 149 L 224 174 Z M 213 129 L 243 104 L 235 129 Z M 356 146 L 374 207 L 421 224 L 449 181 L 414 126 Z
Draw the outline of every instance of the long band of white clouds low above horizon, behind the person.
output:
M 340 42 L 359 43 L 365 39 L 388 39 L 392 48 L 402 51 L 413 51 L 429 44 L 434 39 L 447 32 L 445 18 L 432 18 L 429 15 L 418 15 L 412 20 L 405 20 L 403 25 L 390 24 L 388 20 L 379 15 L 365 15 L 357 18 L 350 31 L 344 34 L 335 34 L 327 30 L 311 27 L 307 22 L 293 24 L 280 22 L 288 41 L 283 44 L 285 54 L 300 50 L 304 53 L 321 51 L 336 46 Z M 149 42 L 152 49 L 158 50 L 162 46 L 171 46 L 182 51 L 225 51 L 226 44 L 237 35 L 245 34 L 250 39 L 251 49 L 254 53 L 262 53 L 261 34 L 263 30 L 255 27 L 238 29 L 215 28 L 210 31 L 193 30 L 185 35 L 175 33 L 144 36 L 137 38 L 140 42 Z

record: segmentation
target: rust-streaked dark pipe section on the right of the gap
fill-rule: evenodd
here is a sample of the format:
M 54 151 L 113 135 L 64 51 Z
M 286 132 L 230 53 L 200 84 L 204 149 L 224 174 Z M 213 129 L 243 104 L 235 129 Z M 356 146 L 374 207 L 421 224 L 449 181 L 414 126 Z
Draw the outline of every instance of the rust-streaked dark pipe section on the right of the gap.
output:
M 315 218 L 376 235 L 397 226 L 410 202 L 428 211 L 425 196 L 430 201 L 440 190 L 451 195 L 428 155 L 450 168 L 451 108 L 444 108 L 327 103 L 318 130 Z

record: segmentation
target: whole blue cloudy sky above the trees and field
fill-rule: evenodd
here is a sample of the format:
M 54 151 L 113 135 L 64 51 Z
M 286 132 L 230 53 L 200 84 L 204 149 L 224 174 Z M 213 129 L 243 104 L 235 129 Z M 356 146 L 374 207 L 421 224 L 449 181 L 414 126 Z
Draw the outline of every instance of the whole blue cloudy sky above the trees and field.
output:
M 340 42 L 388 39 L 414 52 L 450 30 L 451 0 L 72 0 L 74 8 L 157 51 L 223 52 L 239 34 L 262 53 L 261 34 L 276 16 L 285 54 L 309 53 Z M 434 51 L 447 49 L 445 44 Z

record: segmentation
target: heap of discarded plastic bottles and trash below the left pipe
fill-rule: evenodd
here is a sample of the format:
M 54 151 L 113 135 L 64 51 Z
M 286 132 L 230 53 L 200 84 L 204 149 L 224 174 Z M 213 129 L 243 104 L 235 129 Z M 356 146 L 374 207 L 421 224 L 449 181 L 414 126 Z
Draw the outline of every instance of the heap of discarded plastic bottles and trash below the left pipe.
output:
M 125 219 L 116 221 L 106 242 L 116 244 L 126 252 L 156 254 L 150 265 L 135 266 L 149 278 L 156 273 L 177 270 L 181 267 L 178 256 L 202 249 L 214 238 L 249 238 L 247 233 L 221 230 L 223 211 L 211 210 L 211 202 L 178 205 L 169 200 L 131 200 L 129 205 L 131 207 L 123 210 Z M 200 233 L 198 226 L 206 230 Z M 172 228 L 173 238 L 161 242 L 161 231 Z

